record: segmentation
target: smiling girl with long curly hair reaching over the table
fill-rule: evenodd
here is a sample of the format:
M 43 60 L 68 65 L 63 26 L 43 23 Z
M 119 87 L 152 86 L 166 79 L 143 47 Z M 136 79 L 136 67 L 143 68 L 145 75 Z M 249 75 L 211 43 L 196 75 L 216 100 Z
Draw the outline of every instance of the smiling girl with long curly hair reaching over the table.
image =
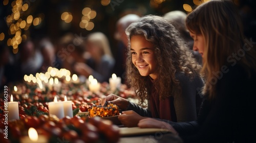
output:
M 141 104 L 147 101 L 147 108 L 114 94 L 104 98 L 102 104 L 111 101 L 122 110 L 130 110 L 118 117 L 127 127 L 137 126 L 144 117 L 174 122 L 195 120 L 201 105 L 201 67 L 179 32 L 162 17 L 147 15 L 132 23 L 126 34 L 127 82 Z

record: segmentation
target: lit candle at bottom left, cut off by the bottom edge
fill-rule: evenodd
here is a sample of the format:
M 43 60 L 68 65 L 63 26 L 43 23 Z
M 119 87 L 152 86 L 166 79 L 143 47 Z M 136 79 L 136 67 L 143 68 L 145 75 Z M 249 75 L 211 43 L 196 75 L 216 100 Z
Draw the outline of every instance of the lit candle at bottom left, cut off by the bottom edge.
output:
M 34 128 L 29 128 L 29 136 L 24 136 L 20 138 L 20 143 L 31 143 L 31 142 L 48 142 L 48 139 L 45 135 L 38 135 L 37 131 Z

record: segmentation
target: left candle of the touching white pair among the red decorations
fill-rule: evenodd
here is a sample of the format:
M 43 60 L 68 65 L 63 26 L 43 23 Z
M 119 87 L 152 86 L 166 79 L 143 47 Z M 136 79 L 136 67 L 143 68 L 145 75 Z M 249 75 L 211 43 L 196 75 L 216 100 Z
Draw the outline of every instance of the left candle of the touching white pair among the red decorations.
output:
M 53 102 L 48 103 L 49 114 L 56 115 L 58 118 L 64 117 L 63 103 L 57 101 L 57 97 L 54 97 Z

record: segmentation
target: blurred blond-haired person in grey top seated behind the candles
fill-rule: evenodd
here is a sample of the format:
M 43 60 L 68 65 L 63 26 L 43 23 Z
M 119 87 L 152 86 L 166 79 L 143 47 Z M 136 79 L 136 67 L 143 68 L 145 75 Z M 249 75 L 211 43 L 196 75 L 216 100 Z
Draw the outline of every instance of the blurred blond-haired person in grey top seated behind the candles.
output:
M 108 38 L 102 32 L 94 32 L 88 35 L 85 42 L 93 64 L 77 62 L 74 70 L 87 78 L 92 75 L 98 82 L 108 82 L 115 66 Z

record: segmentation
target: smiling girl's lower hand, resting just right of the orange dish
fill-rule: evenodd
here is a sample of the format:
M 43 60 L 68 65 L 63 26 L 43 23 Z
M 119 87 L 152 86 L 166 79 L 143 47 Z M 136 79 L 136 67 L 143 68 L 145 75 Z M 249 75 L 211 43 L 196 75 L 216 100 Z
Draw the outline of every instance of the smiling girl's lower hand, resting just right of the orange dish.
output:
M 118 116 L 118 120 L 125 127 L 137 127 L 140 120 L 142 120 L 143 116 L 139 115 L 133 110 L 123 111 L 121 115 Z

